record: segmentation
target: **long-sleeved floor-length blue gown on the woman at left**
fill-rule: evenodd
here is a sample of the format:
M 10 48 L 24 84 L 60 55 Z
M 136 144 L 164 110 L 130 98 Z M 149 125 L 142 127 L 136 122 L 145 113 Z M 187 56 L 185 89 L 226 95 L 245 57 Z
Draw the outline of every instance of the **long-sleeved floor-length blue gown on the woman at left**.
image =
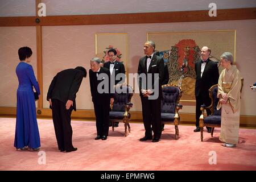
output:
M 18 76 L 19 86 L 17 89 L 14 147 L 38 148 L 40 147 L 40 136 L 32 86 L 40 94 L 39 85 L 30 64 L 20 62 L 16 67 L 16 75 Z

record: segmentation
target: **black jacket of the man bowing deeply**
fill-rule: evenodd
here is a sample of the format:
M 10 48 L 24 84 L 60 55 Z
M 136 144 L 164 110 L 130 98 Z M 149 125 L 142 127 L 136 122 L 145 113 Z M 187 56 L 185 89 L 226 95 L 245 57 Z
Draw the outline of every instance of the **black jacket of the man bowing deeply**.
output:
M 76 93 L 79 91 L 84 73 L 79 69 L 65 69 L 53 78 L 47 93 L 47 101 L 57 99 L 64 103 L 73 101 L 76 111 Z

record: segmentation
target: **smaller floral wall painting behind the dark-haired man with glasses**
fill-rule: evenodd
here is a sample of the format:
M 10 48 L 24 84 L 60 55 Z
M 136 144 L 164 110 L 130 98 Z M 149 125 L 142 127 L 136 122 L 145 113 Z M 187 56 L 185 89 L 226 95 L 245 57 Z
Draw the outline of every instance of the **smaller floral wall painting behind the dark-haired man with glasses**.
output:
M 127 76 L 127 33 L 96 34 L 96 57 L 99 57 L 102 63 L 109 61 L 108 51 L 112 48 L 117 51 L 117 61 L 125 65 Z

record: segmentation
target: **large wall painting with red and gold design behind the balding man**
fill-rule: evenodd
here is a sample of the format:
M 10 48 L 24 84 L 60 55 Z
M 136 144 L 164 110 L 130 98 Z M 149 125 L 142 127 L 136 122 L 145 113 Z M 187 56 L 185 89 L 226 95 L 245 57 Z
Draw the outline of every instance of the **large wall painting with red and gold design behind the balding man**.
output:
M 183 102 L 195 102 L 195 63 L 201 61 L 200 50 L 208 46 L 210 59 L 218 63 L 224 52 L 231 52 L 236 61 L 236 31 L 197 31 L 197 32 L 148 32 L 147 40 L 153 40 L 156 50 L 168 66 L 169 84 L 181 86 Z

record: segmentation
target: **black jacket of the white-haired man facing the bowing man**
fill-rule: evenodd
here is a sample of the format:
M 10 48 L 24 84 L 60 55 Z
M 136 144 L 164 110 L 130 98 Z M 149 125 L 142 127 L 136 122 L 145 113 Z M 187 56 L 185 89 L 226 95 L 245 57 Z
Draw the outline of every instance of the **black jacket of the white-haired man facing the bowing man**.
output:
M 114 94 L 110 93 L 110 86 L 113 86 L 113 85 L 110 85 L 110 71 L 109 71 L 108 68 L 101 67 L 98 74 L 101 74 L 101 73 L 105 73 L 109 78 L 108 93 L 98 93 L 98 90 L 97 90 L 98 84 L 100 84 L 101 81 L 105 80 L 104 79 L 105 77 L 102 78 L 102 80 L 97 80 L 97 73 L 93 72 L 92 69 L 89 70 L 90 93 L 92 94 L 92 101 L 94 103 L 97 103 L 97 104 L 101 104 L 101 103 L 106 104 L 106 103 L 108 103 L 108 105 L 109 105 L 110 104 L 110 98 L 114 98 Z

